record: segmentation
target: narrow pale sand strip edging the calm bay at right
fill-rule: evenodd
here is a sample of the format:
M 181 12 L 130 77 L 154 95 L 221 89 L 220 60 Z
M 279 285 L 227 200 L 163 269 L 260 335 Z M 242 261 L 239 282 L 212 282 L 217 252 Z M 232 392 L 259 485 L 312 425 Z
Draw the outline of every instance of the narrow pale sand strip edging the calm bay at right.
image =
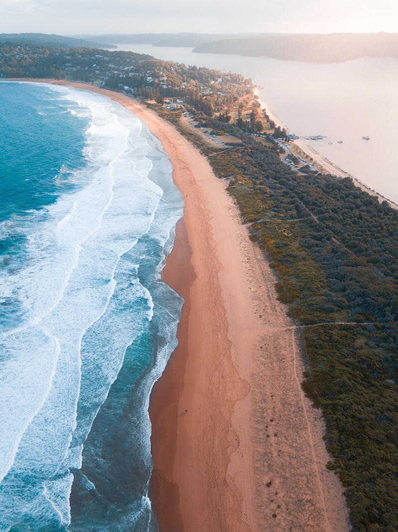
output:
M 259 95 L 259 89 L 258 87 L 255 89 L 254 94 L 258 96 L 258 101 L 261 105 L 261 109 L 266 109 L 267 114 L 271 120 L 275 122 L 275 124 L 281 128 L 284 128 L 287 132 L 290 131 L 289 127 L 286 126 L 282 122 L 282 120 L 270 109 L 270 107 L 264 102 L 263 99 L 261 99 Z M 297 146 L 298 149 L 301 149 L 302 152 L 304 152 L 309 157 L 312 157 L 314 159 L 315 165 L 318 167 L 318 169 L 321 172 L 331 173 L 333 176 L 345 178 L 349 177 L 352 179 L 355 186 L 360 188 L 361 190 L 364 190 L 371 196 L 376 196 L 378 198 L 379 203 L 382 203 L 383 201 L 387 201 L 389 205 L 392 207 L 392 209 L 398 209 L 398 203 L 394 202 L 393 200 L 389 200 L 389 198 L 383 196 L 377 190 L 374 190 L 370 188 L 368 185 L 363 183 L 360 179 L 357 177 L 352 176 L 349 172 L 346 172 L 342 168 L 338 167 L 337 164 L 333 163 L 332 161 L 329 161 L 325 155 L 320 154 L 316 151 L 315 148 L 310 146 L 304 139 L 295 139 L 291 140 L 291 143 Z

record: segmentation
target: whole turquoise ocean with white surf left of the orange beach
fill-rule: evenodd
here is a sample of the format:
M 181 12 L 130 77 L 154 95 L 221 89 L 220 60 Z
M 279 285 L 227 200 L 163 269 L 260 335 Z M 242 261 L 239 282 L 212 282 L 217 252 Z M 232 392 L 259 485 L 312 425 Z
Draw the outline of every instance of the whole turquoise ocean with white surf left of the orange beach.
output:
M 0 83 L 0 530 L 157 530 L 149 393 L 182 300 L 183 202 L 109 98 Z

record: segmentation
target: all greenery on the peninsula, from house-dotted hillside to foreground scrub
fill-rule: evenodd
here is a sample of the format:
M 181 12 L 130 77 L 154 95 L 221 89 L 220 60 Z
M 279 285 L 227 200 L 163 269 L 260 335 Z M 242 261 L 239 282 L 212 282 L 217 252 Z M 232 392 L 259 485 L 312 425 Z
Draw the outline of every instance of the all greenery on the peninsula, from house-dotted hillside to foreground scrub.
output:
M 398 211 L 348 178 L 311 170 L 303 175 L 284 164 L 272 137 L 253 135 L 255 103 L 253 116 L 239 122 L 251 87 L 235 74 L 128 52 L 76 49 L 65 56 L 59 49 L 0 45 L 0 54 L 0 72 L 7 76 L 47 77 L 53 69 L 147 97 L 172 89 L 184 94 L 185 109 L 199 124 L 237 139 L 236 146 L 215 148 L 184 129 L 182 110 L 151 104 L 228 179 L 251 239 L 275 268 L 278 297 L 303 326 L 303 386 L 323 409 L 333 457 L 327 467 L 345 487 L 353 528 L 398 530 Z M 209 102 L 211 113 L 203 109 Z M 223 106 L 218 117 L 208 115 Z M 231 123 L 234 106 L 241 127 Z

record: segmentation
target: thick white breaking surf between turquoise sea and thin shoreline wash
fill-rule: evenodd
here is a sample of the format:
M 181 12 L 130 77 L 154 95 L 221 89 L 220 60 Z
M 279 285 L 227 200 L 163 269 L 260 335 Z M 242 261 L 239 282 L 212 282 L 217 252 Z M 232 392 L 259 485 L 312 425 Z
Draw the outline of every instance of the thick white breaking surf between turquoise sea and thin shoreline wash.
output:
M 141 136 L 142 124 L 106 97 L 52 90 L 91 113 L 87 165 L 72 176 L 77 191 L 31 213 L 26 263 L 2 279 L 4 296 L 18 298 L 25 313 L 1 339 L 7 356 L 0 369 L 0 506 L 7 512 L 0 530 L 27 513 L 69 523 L 70 469 L 81 465 L 84 440 L 126 348 L 153 316 L 139 264 L 121 264 L 153 228 L 163 195 L 148 178 L 152 148 Z M 164 162 L 162 171 L 170 174 Z M 180 202 L 153 230 L 163 247 L 181 213 Z M 79 401 L 87 408 L 77 420 Z M 27 476 L 31 490 L 11 496 L 7 480 L 12 485 Z

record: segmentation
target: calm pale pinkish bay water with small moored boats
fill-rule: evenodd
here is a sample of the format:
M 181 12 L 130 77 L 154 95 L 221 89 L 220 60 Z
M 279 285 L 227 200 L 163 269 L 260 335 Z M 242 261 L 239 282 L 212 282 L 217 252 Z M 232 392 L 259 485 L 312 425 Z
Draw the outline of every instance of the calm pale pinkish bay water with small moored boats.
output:
M 299 63 L 267 57 L 194 54 L 191 48 L 119 45 L 166 61 L 231 70 L 251 78 L 261 99 L 296 135 L 325 135 L 311 146 L 398 203 L 398 61 Z M 363 140 L 363 136 L 370 140 Z M 342 140 L 342 144 L 337 144 Z M 328 143 L 333 144 L 329 145 Z

